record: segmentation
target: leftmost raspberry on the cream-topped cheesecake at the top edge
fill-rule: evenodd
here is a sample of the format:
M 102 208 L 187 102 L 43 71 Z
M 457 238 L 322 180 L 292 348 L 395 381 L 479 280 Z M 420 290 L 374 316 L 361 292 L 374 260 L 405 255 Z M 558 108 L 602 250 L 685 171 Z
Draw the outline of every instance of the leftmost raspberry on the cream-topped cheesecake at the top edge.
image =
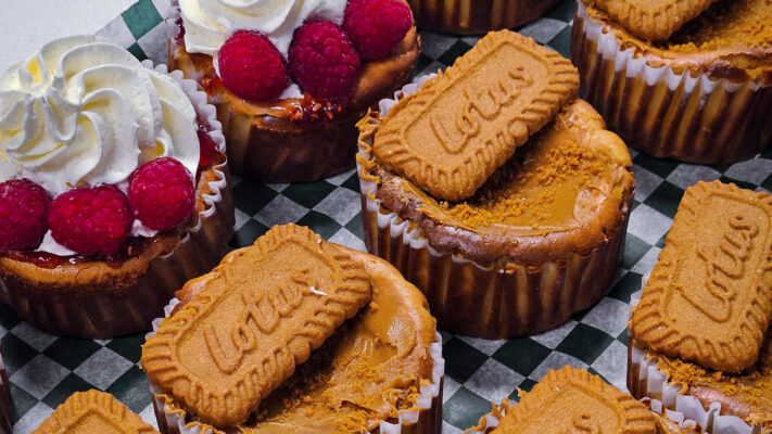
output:
M 219 49 L 219 76 L 226 89 L 252 101 L 278 98 L 287 89 L 287 65 L 263 35 L 239 30 Z

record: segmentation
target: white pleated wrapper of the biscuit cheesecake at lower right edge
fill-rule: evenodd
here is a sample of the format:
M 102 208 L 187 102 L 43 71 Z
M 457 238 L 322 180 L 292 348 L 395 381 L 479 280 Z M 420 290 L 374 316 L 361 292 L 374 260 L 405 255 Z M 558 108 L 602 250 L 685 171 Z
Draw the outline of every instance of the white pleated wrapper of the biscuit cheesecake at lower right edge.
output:
M 643 291 L 631 296 L 630 306 L 641 302 Z M 628 339 L 628 388 L 636 399 L 649 398 L 651 406 L 661 407 L 668 418 L 682 426 L 698 425 L 707 434 L 761 434 L 761 425 L 750 426 L 735 416 L 721 414 L 721 403 L 710 403 L 706 409 L 699 399 L 679 392 L 681 386 L 668 382 L 668 375 L 657 368 L 656 358 L 633 346 Z

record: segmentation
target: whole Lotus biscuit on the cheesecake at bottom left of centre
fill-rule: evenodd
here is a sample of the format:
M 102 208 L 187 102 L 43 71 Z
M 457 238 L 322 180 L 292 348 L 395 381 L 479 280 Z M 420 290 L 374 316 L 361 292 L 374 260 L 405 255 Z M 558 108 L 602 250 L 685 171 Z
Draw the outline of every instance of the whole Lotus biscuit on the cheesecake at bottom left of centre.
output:
M 360 264 L 294 225 L 274 227 L 187 285 L 199 293 L 148 339 L 142 367 L 218 426 L 243 422 L 371 299 Z

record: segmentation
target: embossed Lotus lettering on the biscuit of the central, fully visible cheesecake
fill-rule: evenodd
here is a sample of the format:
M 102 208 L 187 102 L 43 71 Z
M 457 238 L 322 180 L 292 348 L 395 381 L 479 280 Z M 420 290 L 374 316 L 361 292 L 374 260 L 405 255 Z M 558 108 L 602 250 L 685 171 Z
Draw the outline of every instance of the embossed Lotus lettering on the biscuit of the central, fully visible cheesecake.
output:
M 524 68 L 517 66 L 510 69 L 507 76 L 514 80 L 508 85 L 503 79 L 497 79 L 496 82 L 481 91 L 473 91 L 468 86 L 464 88 L 464 97 L 467 103 L 456 116 L 454 126 L 457 132 L 461 135 L 459 140 L 454 140 L 443 125 L 441 114 L 434 113 L 430 116 L 429 123 L 442 148 L 451 154 L 461 152 L 469 140 L 476 138 L 480 133 L 480 117 L 483 120 L 492 120 L 502 113 L 502 108 L 510 105 L 522 93 L 523 88 L 533 86 L 533 77 L 526 76 Z M 474 114 L 477 112 L 479 116 Z M 503 128 L 496 133 L 496 140 L 504 145 L 514 141 L 508 128 Z

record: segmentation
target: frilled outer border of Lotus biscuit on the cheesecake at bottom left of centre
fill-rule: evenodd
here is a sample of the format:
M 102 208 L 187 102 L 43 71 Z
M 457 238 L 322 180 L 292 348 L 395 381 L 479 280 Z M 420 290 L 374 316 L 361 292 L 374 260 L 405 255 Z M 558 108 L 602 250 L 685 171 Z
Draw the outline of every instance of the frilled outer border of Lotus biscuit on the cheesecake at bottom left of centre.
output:
M 249 357 L 243 358 L 241 369 L 232 369 L 232 366 L 227 362 L 220 363 L 215 359 L 217 369 L 229 380 L 227 387 L 223 387 L 223 384 L 212 384 L 211 379 L 191 372 L 183 366 L 177 352 L 181 336 L 191 327 L 197 326 L 197 320 L 206 314 L 207 307 L 222 302 L 227 296 L 230 285 L 207 286 L 202 290 L 182 310 L 165 320 L 142 348 L 142 367 L 151 382 L 170 392 L 205 422 L 218 426 L 243 422 L 252 411 L 257 409 L 263 398 L 292 375 L 296 365 L 304 362 L 311 352 L 320 346 L 336 328 L 354 316 L 371 298 L 369 277 L 360 264 L 326 243 L 309 229 L 294 225 L 274 227 L 255 241 L 253 246 L 235 251 L 226 256 L 210 277 L 202 279 L 223 278 L 229 263 L 237 260 L 236 256 L 242 251 L 256 250 L 258 254 L 267 254 L 271 247 L 287 239 L 298 240 L 305 245 L 319 248 L 322 255 L 334 261 L 342 273 L 339 286 L 324 289 L 326 291 L 324 303 L 315 305 L 313 315 L 295 321 L 296 324 L 278 324 L 277 321 L 281 320 L 280 316 L 268 314 L 262 318 L 274 318 L 274 321 L 263 326 L 260 321 L 255 321 L 258 323 L 257 327 L 265 328 L 267 334 L 274 331 L 291 334 L 278 346 L 258 348 L 254 343 L 257 337 L 250 337 L 245 333 L 236 334 L 241 341 L 235 340 L 235 342 L 242 342 L 244 345 L 250 342 L 253 344 L 248 345 L 251 352 Z M 298 260 L 302 261 L 303 258 Z M 189 284 L 197 284 L 197 281 L 191 281 Z M 311 290 L 314 291 L 313 288 Z M 287 299 L 291 304 L 290 298 Z M 265 314 L 265 310 L 263 312 Z M 260 337 L 267 334 L 261 333 Z M 206 352 L 207 344 L 199 342 L 201 352 Z

